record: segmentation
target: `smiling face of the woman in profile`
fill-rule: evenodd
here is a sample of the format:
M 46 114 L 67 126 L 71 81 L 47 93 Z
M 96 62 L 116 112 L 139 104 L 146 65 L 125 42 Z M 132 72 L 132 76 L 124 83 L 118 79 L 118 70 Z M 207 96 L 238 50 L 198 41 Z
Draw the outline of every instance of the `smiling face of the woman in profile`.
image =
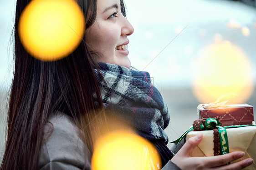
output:
M 94 60 L 130 68 L 127 48 L 131 34 L 133 26 L 122 15 L 120 0 L 97 0 L 96 21 L 85 31 L 89 49 L 102 54 Z

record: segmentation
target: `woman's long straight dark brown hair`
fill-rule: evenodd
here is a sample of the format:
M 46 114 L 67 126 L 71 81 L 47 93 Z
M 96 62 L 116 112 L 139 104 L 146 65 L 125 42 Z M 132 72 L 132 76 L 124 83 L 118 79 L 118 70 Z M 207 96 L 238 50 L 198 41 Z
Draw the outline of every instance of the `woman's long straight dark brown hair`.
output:
M 85 40 L 69 56 L 45 62 L 33 58 L 21 45 L 18 22 L 31 0 L 17 0 L 15 25 L 15 71 L 10 92 L 8 130 L 1 170 L 38 169 L 43 128 L 56 110 L 70 115 L 82 130 L 85 145 L 92 151 L 95 127 L 90 120 L 101 110 L 102 99 L 93 62 Z M 86 28 L 96 19 L 97 0 L 77 0 Z M 122 13 L 125 15 L 123 0 Z M 96 99 L 93 98 L 96 95 Z M 97 103 L 97 105 L 95 105 Z M 104 117 L 104 111 L 101 111 Z M 85 121 L 85 122 L 84 122 Z M 84 125 L 82 128 L 79 125 Z M 86 140 L 85 140 L 86 139 Z

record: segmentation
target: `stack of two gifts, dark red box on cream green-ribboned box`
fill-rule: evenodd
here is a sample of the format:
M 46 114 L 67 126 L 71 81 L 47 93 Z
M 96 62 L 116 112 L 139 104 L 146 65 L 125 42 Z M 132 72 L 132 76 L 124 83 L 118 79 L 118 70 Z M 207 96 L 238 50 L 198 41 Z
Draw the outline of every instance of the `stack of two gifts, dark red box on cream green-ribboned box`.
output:
M 229 153 L 243 151 L 245 155 L 231 163 L 252 158 L 254 163 L 244 170 L 256 170 L 256 125 L 253 118 L 253 106 L 247 104 L 215 106 L 215 103 L 212 104 L 198 105 L 197 115 L 199 120 L 195 120 L 196 123 L 194 122 L 193 128 L 191 127 L 181 138 L 173 143 L 177 144 L 183 137 L 188 140 L 203 132 L 203 140 L 193 150 L 191 156 L 214 156 L 216 155 L 216 134 L 220 135 L 220 128 L 223 127 L 227 135 L 228 148 L 226 146 L 221 147 L 219 140 L 219 155 L 225 154 L 225 152 L 222 152 L 225 149 L 228 149 Z M 213 130 L 206 130 L 206 121 L 209 121 L 209 118 L 215 118 L 216 122 L 218 122 L 218 125 L 215 125 L 216 127 L 214 126 Z M 221 137 L 219 136 L 219 138 Z

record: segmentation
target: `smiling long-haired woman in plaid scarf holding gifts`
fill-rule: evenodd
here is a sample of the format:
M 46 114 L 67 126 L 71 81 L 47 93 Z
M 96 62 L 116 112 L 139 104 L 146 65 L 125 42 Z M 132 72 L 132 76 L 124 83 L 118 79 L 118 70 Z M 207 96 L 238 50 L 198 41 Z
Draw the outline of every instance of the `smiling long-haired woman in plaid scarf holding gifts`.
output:
M 71 55 L 53 62 L 34 59 L 20 43 L 18 21 L 29 1 L 17 0 L 16 5 L 15 73 L 1 170 L 89 170 L 95 138 L 113 113 L 120 114 L 114 114 L 120 120 L 129 120 L 139 135 L 156 146 L 163 170 L 239 170 L 252 163 L 248 159 L 225 165 L 240 158 L 241 152 L 190 157 L 202 135 L 171 155 L 163 131 L 169 123 L 166 104 L 150 85 L 148 73 L 129 70 L 127 45 L 133 27 L 125 18 L 123 0 L 78 0 L 86 18 L 85 41 Z M 108 81 L 108 76 L 115 81 Z M 116 80 L 128 82 L 132 88 L 118 86 Z M 138 87 L 135 81 L 145 84 Z M 138 92 L 142 89 L 149 91 Z

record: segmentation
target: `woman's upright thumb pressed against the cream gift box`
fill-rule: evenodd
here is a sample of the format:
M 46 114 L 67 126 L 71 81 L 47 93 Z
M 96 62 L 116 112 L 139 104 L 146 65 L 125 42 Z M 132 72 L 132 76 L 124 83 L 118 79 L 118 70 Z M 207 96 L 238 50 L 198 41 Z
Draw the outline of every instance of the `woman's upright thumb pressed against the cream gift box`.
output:
M 203 139 L 202 133 L 200 133 L 192 138 L 189 138 L 189 140 L 182 146 L 182 148 L 179 150 L 178 153 L 182 154 L 182 155 L 189 156 L 192 153 L 192 151 L 195 149 L 195 147 L 200 144 L 202 139 Z

